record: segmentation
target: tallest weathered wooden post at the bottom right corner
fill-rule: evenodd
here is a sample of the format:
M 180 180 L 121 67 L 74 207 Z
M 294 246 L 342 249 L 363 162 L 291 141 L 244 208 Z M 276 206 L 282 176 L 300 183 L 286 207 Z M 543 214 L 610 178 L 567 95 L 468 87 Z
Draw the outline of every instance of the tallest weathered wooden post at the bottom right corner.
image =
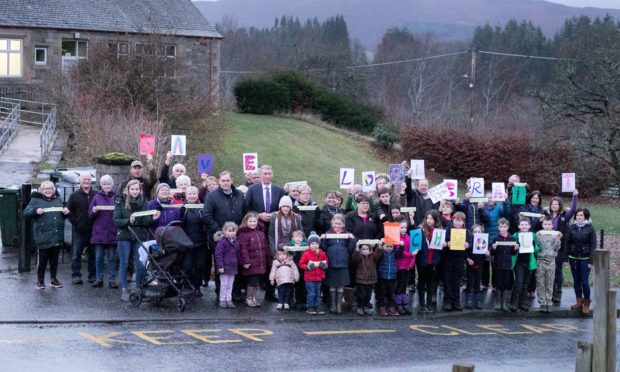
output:
M 609 308 L 609 251 L 607 249 L 595 249 L 594 261 L 594 325 L 592 370 L 608 371 L 607 368 L 607 340 L 608 340 L 608 308 Z M 614 344 L 615 348 L 615 344 Z M 615 353 L 615 350 L 614 350 Z

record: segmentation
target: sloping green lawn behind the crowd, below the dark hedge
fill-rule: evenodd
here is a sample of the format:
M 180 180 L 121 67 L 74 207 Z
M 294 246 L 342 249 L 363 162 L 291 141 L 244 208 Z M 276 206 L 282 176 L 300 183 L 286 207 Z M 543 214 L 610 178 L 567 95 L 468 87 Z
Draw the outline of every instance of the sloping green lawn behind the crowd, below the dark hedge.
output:
M 250 114 L 227 113 L 229 128 L 223 152 L 216 156 L 216 173 L 230 170 L 241 184 L 242 154 L 257 152 L 259 166 L 274 168 L 274 182 L 308 181 L 313 197 L 322 204 L 327 190 L 338 188 L 340 168 L 387 172 L 387 164 L 373 155 L 372 146 L 306 122 Z

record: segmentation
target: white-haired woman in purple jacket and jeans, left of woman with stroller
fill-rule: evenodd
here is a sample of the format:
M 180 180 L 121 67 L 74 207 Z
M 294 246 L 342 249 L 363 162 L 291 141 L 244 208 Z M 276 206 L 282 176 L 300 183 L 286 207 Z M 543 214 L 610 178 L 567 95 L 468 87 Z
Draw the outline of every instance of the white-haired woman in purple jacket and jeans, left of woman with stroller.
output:
M 95 195 L 88 207 L 88 217 L 93 229 L 90 244 L 95 246 L 96 281 L 93 287 L 103 287 L 103 268 L 107 261 L 108 285 L 118 288 L 116 284 L 116 226 L 114 226 L 114 179 L 109 174 L 99 179 L 101 190 Z M 107 209 L 106 209 L 107 208 Z

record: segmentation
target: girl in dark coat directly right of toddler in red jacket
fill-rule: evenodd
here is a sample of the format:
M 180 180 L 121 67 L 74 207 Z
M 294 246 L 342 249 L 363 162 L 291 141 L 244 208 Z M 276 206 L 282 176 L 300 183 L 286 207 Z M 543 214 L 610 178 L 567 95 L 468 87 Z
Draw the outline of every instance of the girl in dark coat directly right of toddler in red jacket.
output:
M 337 214 L 332 218 L 332 228 L 326 234 L 346 234 L 346 239 L 322 239 L 321 249 L 327 254 L 329 268 L 327 269 L 327 279 L 325 284 L 329 286 L 329 312 L 332 314 L 342 314 L 342 298 L 344 297 L 344 287 L 349 285 L 349 257 L 355 249 L 355 238 L 353 234 L 344 230 L 344 216 Z M 323 236 L 322 238 L 325 238 Z

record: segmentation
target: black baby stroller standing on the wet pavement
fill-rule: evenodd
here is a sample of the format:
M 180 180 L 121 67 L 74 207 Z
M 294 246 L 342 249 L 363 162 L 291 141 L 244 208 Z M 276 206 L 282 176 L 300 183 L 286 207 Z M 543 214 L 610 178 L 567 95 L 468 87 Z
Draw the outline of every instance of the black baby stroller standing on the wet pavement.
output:
M 185 255 L 189 254 L 194 243 L 181 228 L 181 222 L 172 221 L 158 227 L 155 230 L 157 244 L 144 243 L 131 227 L 129 230 L 140 242 L 140 261 L 146 267 L 142 291 L 132 293 L 129 302 L 137 307 L 143 300 L 157 304 L 164 298 L 177 297 L 177 311 L 185 311 L 185 307 L 194 300 L 195 288 L 182 267 Z

